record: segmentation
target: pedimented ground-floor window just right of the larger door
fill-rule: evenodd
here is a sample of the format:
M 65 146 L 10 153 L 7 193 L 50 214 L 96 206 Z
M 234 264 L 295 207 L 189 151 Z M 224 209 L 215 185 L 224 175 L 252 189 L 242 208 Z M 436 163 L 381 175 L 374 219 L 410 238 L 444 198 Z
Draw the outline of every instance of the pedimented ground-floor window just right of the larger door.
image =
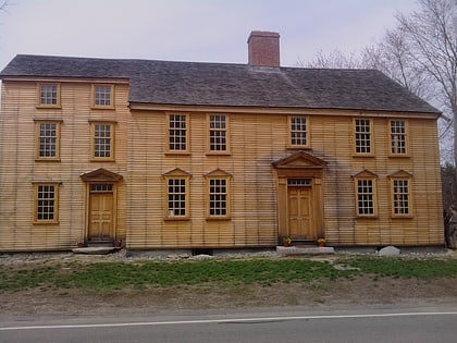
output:
M 363 170 L 354 176 L 356 191 L 356 215 L 375 217 L 376 209 L 376 174 Z

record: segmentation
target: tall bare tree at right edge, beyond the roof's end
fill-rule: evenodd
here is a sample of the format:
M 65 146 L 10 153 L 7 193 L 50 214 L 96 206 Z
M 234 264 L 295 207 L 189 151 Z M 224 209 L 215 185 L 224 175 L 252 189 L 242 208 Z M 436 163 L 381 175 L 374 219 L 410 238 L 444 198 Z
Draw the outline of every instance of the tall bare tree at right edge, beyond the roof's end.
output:
M 444 138 L 453 126 L 453 163 L 457 164 L 457 1 L 419 0 L 421 11 L 411 15 L 397 14 L 395 35 L 403 42 L 407 68 L 419 75 L 418 89 L 443 111 L 448 125 L 441 132 Z M 392 46 L 392 45 L 391 45 Z M 410 75 L 409 81 L 413 79 Z

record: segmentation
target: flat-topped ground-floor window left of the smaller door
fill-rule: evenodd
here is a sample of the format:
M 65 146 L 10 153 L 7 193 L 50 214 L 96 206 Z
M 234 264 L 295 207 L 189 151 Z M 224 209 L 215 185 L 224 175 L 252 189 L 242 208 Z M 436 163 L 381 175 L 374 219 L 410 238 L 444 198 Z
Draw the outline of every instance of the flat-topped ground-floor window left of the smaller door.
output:
M 35 223 L 57 223 L 59 221 L 58 204 L 58 184 L 35 184 Z

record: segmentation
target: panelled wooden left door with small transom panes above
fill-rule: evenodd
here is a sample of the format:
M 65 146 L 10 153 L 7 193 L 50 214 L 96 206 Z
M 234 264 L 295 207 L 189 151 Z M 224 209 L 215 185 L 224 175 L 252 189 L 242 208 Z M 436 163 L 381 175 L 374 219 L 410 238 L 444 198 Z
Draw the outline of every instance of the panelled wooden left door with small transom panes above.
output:
M 89 241 L 114 240 L 112 184 L 91 184 L 89 193 Z

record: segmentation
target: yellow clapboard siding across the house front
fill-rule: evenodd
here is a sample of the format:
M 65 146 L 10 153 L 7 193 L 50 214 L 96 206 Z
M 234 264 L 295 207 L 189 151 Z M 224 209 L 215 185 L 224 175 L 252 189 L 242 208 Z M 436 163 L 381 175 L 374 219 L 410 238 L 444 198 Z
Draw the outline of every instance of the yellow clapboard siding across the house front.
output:
M 129 248 L 274 246 L 280 233 L 277 180 L 272 162 L 296 149 L 287 144 L 287 112 L 231 113 L 230 155 L 207 155 L 207 114 L 189 117 L 189 154 L 166 154 L 166 112 L 131 111 L 128 85 L 116 84 L 114 110 L 90 108 L 91 84 L 61 83 L 61 108 L 37 109 L 35 82 L 3 82 L 0 126 L 0 250 L 71 248 L 87 234 L 87 189 L 79 175 L 103 168 L 123 179 L 116 184 L 116 237 Z M 388 120 L 373 122 L 374 155 L 353 156 L 353 118 L 337 110 L 307 113 L 310 148 L 326 162 L 323 170 L 322 232 L 333 245 L 443 244 L 436 121 L 408 119 L 408 157 L 388 155 Z M 362 113 L 366 115 L 367 113 Z M 353 115 L 359 115 L 354 112 Z M 407 115 L 406 115 L 407 117 Z M 34 120 L 61 121 L 60 162 L 35 161 Z M 90 160 L 90 122 L 115 122 L 115 161 Z M 163 174 L 190 175 L 189 218 L 164 220 Z M 217 169 L 231 175 L 230 220 L 207 220 L 205 175 Z M 376 175 L 378 218 L 356 217 L 353 175 Z M 388 175 L 412 175 L 412 211 L 392 217 Z M 34 181 L 60 183 L 59 224 L 33 224 Z M 12 200 L 13 199 L 13 200 Z M 314 221 L 316 222 L 316 221 Z M 314 223 L 313 222 L 313 223 Z M 7 230 L 5 230 L 7 229 Z

